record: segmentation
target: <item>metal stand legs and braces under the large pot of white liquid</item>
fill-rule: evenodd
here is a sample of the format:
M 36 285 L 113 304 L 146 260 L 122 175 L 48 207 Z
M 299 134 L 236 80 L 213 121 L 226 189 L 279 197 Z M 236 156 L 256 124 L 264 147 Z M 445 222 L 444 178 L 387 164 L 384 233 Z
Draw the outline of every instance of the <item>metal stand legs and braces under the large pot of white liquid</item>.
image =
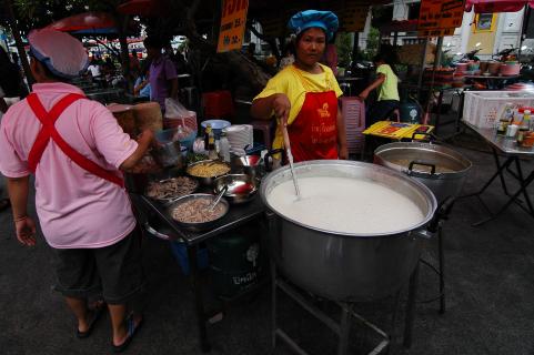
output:
M 278 277 L 276 274 L 276 266 L 274 265 L 274 262 L 271 261 L 271 277 L 272 277 L 272 323 L 271 323 L 271 345 L 273 352 L 275 351 L 276 347 L 276 339 L 278 337 L 282 339 L 285 344 L 288 344 L 296 354 L 300 355 L 309 355 L 308 352 L 305 352 L 302 347 L 299 346 L 281 327 L 279 327 L 276 323 L 276 307 L 278 307 L 278 297 L 276 297 L 276 291 L 280 288 L 283 291 L 286 295 L 289 295 L 291 298 L 293 298 L 299 305 L 301 305 L 304 310 L 306 310 L 310 314 L 315 316 L 319 321 L 321 321 L 324 325 L 326 325 L 330 329 L 332 329 L 335 334 L 339 336 L 339 343 L 337 343 L 337 355 L 346 355 L 349 351 L 349 335 L 350 335 L 350 328 L 351 328 L 351 318 L 355 318 L 366 325 L 369 328 L 374 331 L 377 335 L 382 337 L 382 341 L 369 353 L 369 355 L 376 355 L 382 353 L 384 349 L 386 349 L 391 344 L 394 343 L 394 328 L 395 328 L 395 321 L 396 321 L 396 312 L 399 308 L 399 302 L 400 302 L 400 294 L 401 292 L 399 291 L 395 295 L 395 301 L 394 301 L 394 311 L 392 315 L 392 331 L 391 334 L 387 335 L 384 331 L 379 328 L 376 325 L 373 323 L 366 321 L 363 318 L 361 315 L 354 312 L 354 304 L 352 303 L 346 303 L 346 302 L 335 302 L 340 308 L 341 308 L 341 316 L 340 316 L 340 322 L 337 323 L 334 321 L 331 316 L 329 316 L 326 313 L 323 311 L 319 310 L 316 306 L 314 306 L 311 302 L 309 302 L 299 291 L 295 286 L 291 285 L 288 281 L 282 280 Z M 406 326 L 410 326 L 410 329 L 406 329 L 405 332 L 405 338 L 404 338 L 404 344 L 411 344 L 411 336 L 412 336 L 412 326 L 413 326 L 413 320 L 414 315 L 413 312 L 415 311 L 415 291 L 416 291 L 416 283 L 419 278 L 419 266 L 416 267 L 416 272 L 411 277 L 411 293 L 410 293 L 410 298 L 409 298 L 409 307 L 407 307 L 407 318 L 410 318 L 410 322 L 406 321 Z M 413 284 L 413 286 L 412 286 Z M 412 287 L 414 288 L 412 292 Z M 406 336 L 409 336 L 409 339 L 406 339 Z M 410 345 L 409 345 L 410 346 Z M 409 347 L 407 346 L 407 347 Z

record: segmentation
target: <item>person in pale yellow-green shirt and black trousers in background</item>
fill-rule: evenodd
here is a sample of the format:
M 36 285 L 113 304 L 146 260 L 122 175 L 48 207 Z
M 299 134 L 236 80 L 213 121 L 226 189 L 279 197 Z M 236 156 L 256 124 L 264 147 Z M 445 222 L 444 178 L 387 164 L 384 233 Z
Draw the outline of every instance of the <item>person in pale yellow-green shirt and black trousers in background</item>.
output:
M 367 99 L 371 91 L 379 89 L 379 99 L 371 106 L 369 116 L 365 120 L 365 125 L 370 126 L 375 122 L 385 121 L 390 115 L 399 109 L 399 78 L 393 71 L 392 67 L 387 63 L 387 58 L 380 53 L 373 58 L 373 63 L 376 67 L 376 80 L 365 88 L 360 93 L 360 99 Z

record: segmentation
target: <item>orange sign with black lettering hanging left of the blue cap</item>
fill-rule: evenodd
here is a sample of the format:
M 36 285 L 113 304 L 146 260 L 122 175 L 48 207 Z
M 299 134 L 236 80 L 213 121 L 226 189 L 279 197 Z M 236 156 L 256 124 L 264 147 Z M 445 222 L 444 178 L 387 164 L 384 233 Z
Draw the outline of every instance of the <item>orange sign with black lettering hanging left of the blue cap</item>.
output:
M 240 50 L 246 24 L 249 0 L 222 0 L 221 27 L 219 29 L 218 53 Z

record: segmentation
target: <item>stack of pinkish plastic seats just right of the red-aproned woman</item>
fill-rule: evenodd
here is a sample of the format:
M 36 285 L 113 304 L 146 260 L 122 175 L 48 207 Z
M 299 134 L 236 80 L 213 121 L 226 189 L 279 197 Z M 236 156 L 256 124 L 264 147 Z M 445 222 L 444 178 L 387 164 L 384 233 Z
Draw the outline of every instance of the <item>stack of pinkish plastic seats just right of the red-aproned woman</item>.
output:
M 343 120 L 345 121 L 346 145 L 350 154 L 363 149 L 365 130 L 365 104 L 357 98 L 342 98 Z

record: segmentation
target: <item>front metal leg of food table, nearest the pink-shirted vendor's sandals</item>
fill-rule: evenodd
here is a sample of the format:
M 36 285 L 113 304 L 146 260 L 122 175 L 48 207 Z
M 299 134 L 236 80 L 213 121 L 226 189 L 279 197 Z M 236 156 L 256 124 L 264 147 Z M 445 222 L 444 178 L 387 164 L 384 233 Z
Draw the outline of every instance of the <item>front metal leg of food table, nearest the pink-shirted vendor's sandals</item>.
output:
M 200 348 L 203 353 L 208 353 L 211 351 L 211 345 L 208 339 L 208 329 L 206 329 L 206 316 L 204 312 L 204 300 L 202 297 L 202 287 L 200 284 L 200 273 L 198 266 L 198 255 L 199 245 L 188 245 L 188 258 L 189 258 L 189 267 L 191 271 L 190 281 L 191 281 L 191 288 L 194 295 L 194 305 L 197 311 L 197 325 L 199 327 L 199 337 L 200 337 Z

